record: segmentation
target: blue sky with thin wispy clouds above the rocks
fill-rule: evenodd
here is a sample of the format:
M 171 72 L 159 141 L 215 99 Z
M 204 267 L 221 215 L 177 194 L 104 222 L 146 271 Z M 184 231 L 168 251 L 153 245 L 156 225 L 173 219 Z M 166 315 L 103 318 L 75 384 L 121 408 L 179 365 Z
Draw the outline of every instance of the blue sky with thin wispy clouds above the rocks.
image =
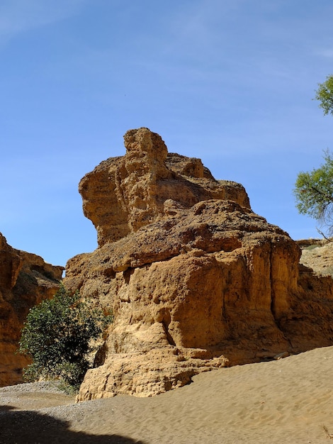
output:
M 312 100 L 332 20 L 332 0 L 1 0 L 0 232 L 54 265 L 94 250 L 79 180 L 146 126 L 318 237 L 293 186 L 333 148 Z

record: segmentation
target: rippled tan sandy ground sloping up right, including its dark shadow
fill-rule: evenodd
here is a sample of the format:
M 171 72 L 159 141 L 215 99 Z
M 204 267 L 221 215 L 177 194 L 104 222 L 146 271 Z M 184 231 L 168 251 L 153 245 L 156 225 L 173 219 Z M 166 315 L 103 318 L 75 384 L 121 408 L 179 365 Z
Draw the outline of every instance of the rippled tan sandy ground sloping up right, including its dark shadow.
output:
M 199 374 L 152 398 L 74 404 L 33 387 L 0 389 L 1 444 L 333 443 L 333 347 Z

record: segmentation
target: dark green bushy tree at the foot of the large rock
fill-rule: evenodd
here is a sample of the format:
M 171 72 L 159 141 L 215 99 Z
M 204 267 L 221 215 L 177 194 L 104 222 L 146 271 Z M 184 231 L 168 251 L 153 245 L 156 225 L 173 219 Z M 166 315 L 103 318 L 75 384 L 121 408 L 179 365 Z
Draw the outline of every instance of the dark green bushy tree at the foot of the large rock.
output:
M 23 372 L 26 381 L 60 379 L 78 389 L 89 368 L 94 340 L 112 321 L 101 309 L 70 294 L 63 285 L 52 299 L 30 309 L 18 351 L 31 358 Z

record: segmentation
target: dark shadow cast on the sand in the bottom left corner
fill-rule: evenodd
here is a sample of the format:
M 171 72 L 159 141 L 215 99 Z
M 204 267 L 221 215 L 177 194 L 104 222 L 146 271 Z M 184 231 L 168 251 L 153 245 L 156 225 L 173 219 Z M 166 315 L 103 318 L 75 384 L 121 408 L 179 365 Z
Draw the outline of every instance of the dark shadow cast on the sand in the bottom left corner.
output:
M 145 444 L 119 435 L 89 435 L 69 430 L 69 423 L 38 411 L 0 407 L 1 444 Z

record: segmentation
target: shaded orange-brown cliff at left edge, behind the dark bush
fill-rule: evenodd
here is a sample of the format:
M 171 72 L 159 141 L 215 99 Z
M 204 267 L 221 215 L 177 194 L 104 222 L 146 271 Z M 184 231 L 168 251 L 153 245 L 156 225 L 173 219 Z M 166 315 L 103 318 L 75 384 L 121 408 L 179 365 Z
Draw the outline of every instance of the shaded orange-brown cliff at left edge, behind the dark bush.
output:
M 0 387 L 22 382 L 29 363 L 16 354 L 23 323 L 31 307 L 57 292 L 63 270 L 11 248 L 0 233 Z

